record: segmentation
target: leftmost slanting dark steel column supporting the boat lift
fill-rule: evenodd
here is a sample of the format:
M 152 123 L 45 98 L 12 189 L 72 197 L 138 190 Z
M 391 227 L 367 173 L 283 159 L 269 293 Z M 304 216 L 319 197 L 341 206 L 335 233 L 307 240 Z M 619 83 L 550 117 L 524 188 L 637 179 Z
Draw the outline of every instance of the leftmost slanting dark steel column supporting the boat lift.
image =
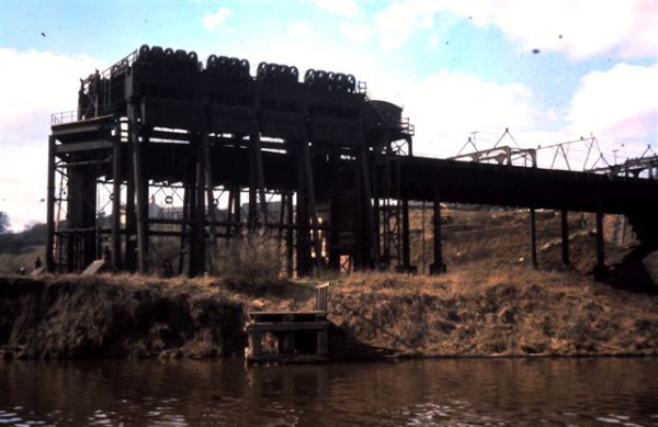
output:
M 138 123 L 138 106 L 128 103 L 128 121 L 131 122 L 131 145 L 133 146 L 133 177 L 135 180 L 137 206 L 137 267 L 141 274 L 148 273 L 148 183 L 141 168 L 141 147 L 139 143 L 140 126 Z

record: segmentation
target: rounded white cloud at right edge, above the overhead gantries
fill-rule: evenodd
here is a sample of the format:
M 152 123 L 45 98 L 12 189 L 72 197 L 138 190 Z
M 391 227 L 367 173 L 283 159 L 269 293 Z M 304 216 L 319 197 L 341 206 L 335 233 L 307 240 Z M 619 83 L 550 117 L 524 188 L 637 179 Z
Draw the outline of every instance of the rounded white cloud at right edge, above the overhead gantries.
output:
M 658 64 L 617 64 L 581 79 L 569 110 L 575 133 L 646 141 L 658 134 Z

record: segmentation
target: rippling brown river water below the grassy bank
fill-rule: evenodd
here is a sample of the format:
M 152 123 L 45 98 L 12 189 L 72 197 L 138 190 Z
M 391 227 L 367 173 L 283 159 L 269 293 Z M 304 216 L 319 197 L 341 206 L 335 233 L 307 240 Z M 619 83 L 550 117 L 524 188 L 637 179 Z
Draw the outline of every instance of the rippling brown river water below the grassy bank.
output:
M 658 359 L 0 362 L 0 425 L 658 426 Z

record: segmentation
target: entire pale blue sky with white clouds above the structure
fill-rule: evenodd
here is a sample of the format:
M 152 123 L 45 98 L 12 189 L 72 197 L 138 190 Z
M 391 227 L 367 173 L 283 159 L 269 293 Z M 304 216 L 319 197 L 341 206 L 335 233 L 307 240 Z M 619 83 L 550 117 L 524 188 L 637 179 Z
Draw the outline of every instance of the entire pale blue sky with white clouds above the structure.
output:
M 46 217 L 50 115 L 143 44 L 246 58 L 252 75 L 260 61 L 353 74 L 404 108 L 418 156 L 470 151 L 469 137 L 491 148 L 506 128 L 499 145 L 579 141 L 574 169 L 592 142 L 609 162 L 658 150 L 658 0 L 0 0 L 13 231 Z

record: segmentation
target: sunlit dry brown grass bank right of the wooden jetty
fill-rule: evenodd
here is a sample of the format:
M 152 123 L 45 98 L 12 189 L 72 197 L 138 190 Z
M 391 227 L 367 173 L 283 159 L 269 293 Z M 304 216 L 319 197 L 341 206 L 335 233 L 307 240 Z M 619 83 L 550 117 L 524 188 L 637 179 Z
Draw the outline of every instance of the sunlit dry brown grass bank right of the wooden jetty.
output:
M 658 297 L 576 271 L 355 274 L 333 286 L 330 312 L 352 339 L 406 355 L 658 355 Z

